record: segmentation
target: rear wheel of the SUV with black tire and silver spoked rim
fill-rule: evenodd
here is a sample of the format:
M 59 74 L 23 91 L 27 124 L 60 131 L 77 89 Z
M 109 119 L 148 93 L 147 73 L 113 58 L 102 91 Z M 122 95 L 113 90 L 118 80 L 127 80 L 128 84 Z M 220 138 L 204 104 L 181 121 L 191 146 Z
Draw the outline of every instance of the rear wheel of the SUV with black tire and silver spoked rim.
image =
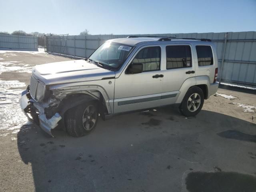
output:
M 200 97 L 196 94 L 198 94 Z M 193 95 L 194 97 L 196 96 L 197 99 L 196 98 L 193 99 Z M 200 100 L 200 104 L 199 104 L 199 100 Z M 194 86 L 189 88 L 186 95 L 184 96 L 182 103 L 180 104 L 180 112 L 181 114 L 187 117 L 196 116 L 201 111 L 203 105 L 204 105 L 204 92 L 199 87 Z

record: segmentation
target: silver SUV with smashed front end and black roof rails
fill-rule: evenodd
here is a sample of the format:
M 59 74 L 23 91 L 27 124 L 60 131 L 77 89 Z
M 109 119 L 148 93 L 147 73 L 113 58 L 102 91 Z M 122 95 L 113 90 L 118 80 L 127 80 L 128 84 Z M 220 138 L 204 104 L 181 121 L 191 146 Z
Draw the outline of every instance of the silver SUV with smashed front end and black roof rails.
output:
M 217 73 L 208 39 L 129 36 L 106 41 L 84 60 L 35 66 L 20 106 L 50 135 L 59 124 L 80 137 L 99 116 L 170 104 L 195 116 L 216 93 Z

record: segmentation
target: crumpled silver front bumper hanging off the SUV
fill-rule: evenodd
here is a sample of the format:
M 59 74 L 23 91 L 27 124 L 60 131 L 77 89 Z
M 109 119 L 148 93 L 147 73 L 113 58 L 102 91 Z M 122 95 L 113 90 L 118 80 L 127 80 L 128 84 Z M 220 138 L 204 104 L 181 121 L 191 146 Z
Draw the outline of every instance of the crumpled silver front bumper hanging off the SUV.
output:
M 58 122 L 62 119 L 59 113 L 55 113 L 51 118 L 46 118 L 44 113 L 44 104 L 33 100 L 29 93 L 29 87 L 21 94 L 19 103 L 22 111 L 29 121 L 38 124 L 42 130 L 52 135 L 51 130 L 58 126 Z

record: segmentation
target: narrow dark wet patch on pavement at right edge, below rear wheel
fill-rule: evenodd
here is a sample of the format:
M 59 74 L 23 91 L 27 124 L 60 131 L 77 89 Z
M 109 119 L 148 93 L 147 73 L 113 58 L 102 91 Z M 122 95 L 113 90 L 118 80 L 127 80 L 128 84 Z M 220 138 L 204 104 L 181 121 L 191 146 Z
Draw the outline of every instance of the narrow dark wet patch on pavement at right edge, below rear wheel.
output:
M 256 142 L 256 135 L 242 133 L 236 130 L 228 130 L 217 134 L 220 137 L 236 139 L 241 141 Z

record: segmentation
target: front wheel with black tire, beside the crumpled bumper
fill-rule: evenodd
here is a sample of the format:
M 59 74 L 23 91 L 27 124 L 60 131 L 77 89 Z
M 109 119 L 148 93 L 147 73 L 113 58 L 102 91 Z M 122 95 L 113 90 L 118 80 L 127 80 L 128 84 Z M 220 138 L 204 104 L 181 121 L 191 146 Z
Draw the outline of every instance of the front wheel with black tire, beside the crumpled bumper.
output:
M 92 109 L 92 106 L 95 109 L 95 114 L 91 114 L 90 119 L 90 113 L 87 114 L 87 111 L 88 107 L 90 110 L 90 108 Z M 65 114 L 65 125 L 68 134 L 73 137 L 82 137 L 87 134 L 90 134 L 96 128 L 96 124 L 98 122 L 98 114 L 99 110 L 97 102 L 86 102 L 84 104 L 69 109 Z M 87 120 L 83 123 L 83 120 L 85 119 Z M 92 120 L 94 119 L 95 121 L 92 125 Z

